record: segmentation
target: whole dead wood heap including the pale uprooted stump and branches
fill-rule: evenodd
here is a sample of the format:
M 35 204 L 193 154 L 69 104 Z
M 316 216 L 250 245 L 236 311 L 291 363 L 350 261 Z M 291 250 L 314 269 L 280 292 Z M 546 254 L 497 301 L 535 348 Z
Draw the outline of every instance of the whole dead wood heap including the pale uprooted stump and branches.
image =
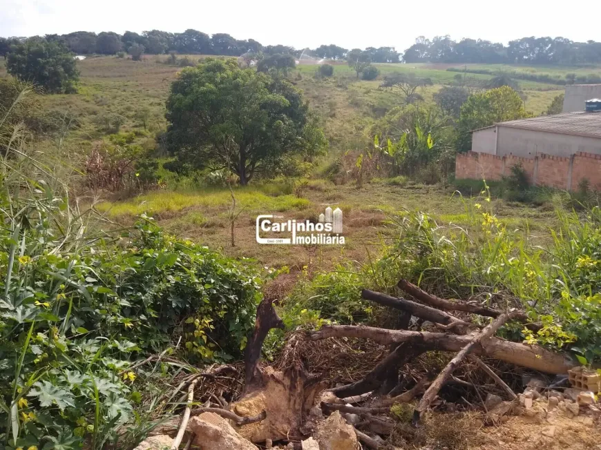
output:
M 283 328 L 283 322 L 271 301 L 263 300 L 258 307 L 254 335 L 247 345 L 244 387 L 238 400 L 223 402 L 221 395 L 211 392 L 210 397 L 215 401 L 209 399 L 202 408 L 189 407 L 187 416 L 217 413 L 231 420 L 236 432 L 250 442 L 265 446 L 272 442 L 292 443 L 288 448 L 300 449 L 300 442 L 309 436 L 319 439 L 327 434 L 322 430 L 320 435 L 320 424 L 324 416 L 338 411 L 336 414 L 341 414 L 356 431 L 353 439 L 364 448 L 376 449 L 394 429 L 395 422 L 390 416 L 393 404 L 414 401 L 410 408 L 412 425 L 417 427 L 423 413 L 439 404 L 441 389 L 449 385 L 474 388 L 485 411 L 486 402 L 480 393 L 484 383 L 488 383 L 484 385 L 485 393 L 517 401 L 512 387 L 490 367 L 490 362 L 551 375 L 567 373 L 575 365 L 566 355 L 495 337 L 497 330 L 510 321 L 537 328 L 537 324 L 528 323 L 523 311 L 499 311 L 470 302 L 445 300 L 406 280 L 401 280 L 398 286 L 408 294 L 408 299 L 368 290 L 363 290 L 361 296 L 401 311 L 406 319 L 401 321 L 401 329 L 328 325 L 318 331 L 294 333 L 273 367 L 262 366 L 260 354 L 269 330 Z M 462 318 L 455 315 L 457 311 Z M 409 329 L 416 319 L 418 329 Z M 422 331 L 426 322 L 430 322 L 431 331 Z M 357 349 L 361 349 L 361 358 L 356 356 Z M 429 352 L 437 355 L 441 351 L 455 355 L 444 361 L 438 374 L 422 371 L 420 375 L 399 376 L 401 368 L 419 364 L 420 358 Z M 344 364 L 336 365 L 332 358 L 343 359 Z M 482 374 L 480 389 L 473 380 L 455 376 L 468 366 Z M 332 387 L 339 380 L 352 382 Z M 186 381 L 190 384 L 193 379 Z M 465 403 L 473 407 L 468 400 Z

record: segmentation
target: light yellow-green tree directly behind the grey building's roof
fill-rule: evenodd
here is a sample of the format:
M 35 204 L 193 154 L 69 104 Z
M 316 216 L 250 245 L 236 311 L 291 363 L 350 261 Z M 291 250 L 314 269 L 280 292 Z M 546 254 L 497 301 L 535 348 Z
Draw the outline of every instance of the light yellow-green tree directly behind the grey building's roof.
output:
M 526 117 L 533 117 L 533 114 L 524 109 L 524 102 L 509 86 L 470 95 L 461 106 L 457 124 L 457 150 L 467 151 L 472 148 L 470 132 L 473 130 Z

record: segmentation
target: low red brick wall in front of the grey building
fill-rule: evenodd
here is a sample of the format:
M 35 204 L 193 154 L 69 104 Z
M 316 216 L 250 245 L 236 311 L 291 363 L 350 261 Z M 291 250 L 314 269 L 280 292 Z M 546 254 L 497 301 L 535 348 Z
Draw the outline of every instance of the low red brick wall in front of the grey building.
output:
M 566 189 L 570 181 L 570 190 L 578 190 L 582 179 L 588 179 L 591 188 L 601 190 L 601 155 L 583 152 L 576 153 L 572 158 L 539 153 L 531 159 L 468 152 L 457 155 L 455 177 L 501 179 L 503 175 L 510 175 L 511 167 L 518 163 L 522 164 L 531 182 L 537 186 Z

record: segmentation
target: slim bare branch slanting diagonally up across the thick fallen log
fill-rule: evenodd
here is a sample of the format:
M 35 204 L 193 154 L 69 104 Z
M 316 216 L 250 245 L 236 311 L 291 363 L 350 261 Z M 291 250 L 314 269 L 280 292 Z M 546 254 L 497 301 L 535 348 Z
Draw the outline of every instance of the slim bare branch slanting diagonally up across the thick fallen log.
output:
M 484 330 L 469 338 L 470 342 L 468 342 L 468 344 L 464 346 L 464 348 L 461 349 L 459 353 L 457 353 L 457 355 L 455 355 L 455 358 L 450 360 L 446 367 L 442 369 L 441 373 L 439 373 L 436 380 L 434 380 L 434 382 L 430 384 L 430 387 L 428 388 L 426 393 L 424 393 L 421 400 L 419 400 L 419 404 L 417 404 L 417 407 L 413 411 L 412 423 L 414 425 L 416 425 L 419 422 L 419 416 L 421 415 L 421 413 L 428 409 L 430 403 L 432 403 L 432 400 L 434 400 L 435 397 L 438 395 L 441 387 L 443 387 L 443 384 L 446 382 L 446 380 L 448 380 L 450 375 L 452 375 L 455 369 L 457 369 L 457 366 L 461 364 L 461 362 L 466 358 L 466 356 L 471 351 L 473 351 L 476 348 L 476 346 L 480 344 L 480 342 L 483 342 L 484 344 L 484 342 L 486 342 L 486 340 L 488 340 L 493 334 L 495 334 L 505 322 L 511 320 L 511 317 L 512 313 L 499 315 L 499 317 L 493 320 L 493 322 L 490 322 L 490 324 L 486 325 L 484 327 Z

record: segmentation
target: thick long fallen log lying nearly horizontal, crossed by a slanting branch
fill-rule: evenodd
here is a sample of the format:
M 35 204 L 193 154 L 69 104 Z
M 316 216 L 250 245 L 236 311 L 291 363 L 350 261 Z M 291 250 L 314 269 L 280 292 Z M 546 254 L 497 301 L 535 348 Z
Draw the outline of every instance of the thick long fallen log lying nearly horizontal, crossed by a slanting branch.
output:
M 311 340 L 326 337 L 357 337 L 371 339 L 379 344 L 410 342 L 423 346 L 424 350 L 460 351 L 470 343 L 471 337 L 448 333 L 429 333 L 426 331 L 386 330 L 372 326 L 325 325 L 319 331 L 309 335 Z M 510 362 L 545 373 L 567 373 L 576 364 L 566 355 L 543 349 L 537 345 L 519 344 L 493 337 L 482 342 L 474 349 L 474 353 L 487 355 L 497 360 Z

